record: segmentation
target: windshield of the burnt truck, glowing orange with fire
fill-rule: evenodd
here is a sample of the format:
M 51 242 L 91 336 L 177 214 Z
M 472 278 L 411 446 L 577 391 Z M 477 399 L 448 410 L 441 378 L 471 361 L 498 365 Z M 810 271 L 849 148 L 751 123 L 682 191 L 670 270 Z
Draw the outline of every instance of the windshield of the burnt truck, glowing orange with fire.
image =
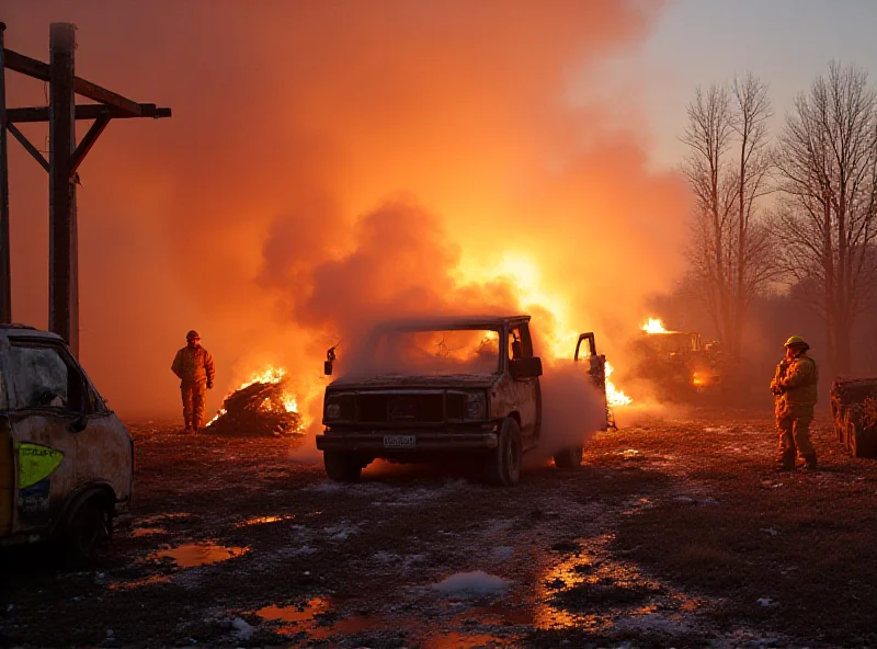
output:
M 386 330 L 373 338 L 369 374 L 498 374 L 500 335 L 482 329 Z

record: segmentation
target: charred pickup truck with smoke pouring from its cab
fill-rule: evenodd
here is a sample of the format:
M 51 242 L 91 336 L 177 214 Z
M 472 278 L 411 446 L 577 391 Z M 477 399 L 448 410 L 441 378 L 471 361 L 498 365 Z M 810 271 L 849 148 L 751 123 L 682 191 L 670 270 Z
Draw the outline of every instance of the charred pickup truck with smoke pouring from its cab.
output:
M 529 320 L 486 316 L 377 326 L 345 375 L 326 388 L 317 448 L 327 475 L 355 481 L 376 458 L 431 463 L 449 456 L 480 462 L 488 482 L 517 483 L 522 455 L 538 446 L 543 420 L 543 366 Z M 596 354 L 594 335 L 583 333 L 577 361 L 582 343 L 586 371 L 605 401 L 605 357 Z M 327 375 L 333 363 L 330 350 Z M 580 442 L 559 452 L 555 464 L 574 468 L 581 457 Z

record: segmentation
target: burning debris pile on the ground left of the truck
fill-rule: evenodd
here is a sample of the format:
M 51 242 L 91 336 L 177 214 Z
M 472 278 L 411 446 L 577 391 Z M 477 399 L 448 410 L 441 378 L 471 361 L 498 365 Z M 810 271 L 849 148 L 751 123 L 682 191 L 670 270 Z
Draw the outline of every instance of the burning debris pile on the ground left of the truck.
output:
M 286 372 L 274 367 L 251 377 L 228 395 L 207 424 L 207 432 L 236 436 L 277 436 L 304 433 L 298 403 Z

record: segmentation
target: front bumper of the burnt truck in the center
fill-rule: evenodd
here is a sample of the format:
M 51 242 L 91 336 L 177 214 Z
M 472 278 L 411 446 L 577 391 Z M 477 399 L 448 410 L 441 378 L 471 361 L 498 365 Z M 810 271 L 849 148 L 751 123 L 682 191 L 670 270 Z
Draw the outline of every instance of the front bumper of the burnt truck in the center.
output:
M 447 431 L 326 431 L 317 435 L 319 451 L 365 452 L 398 456 L 429 451 L 490 451 L 499 444 L 497 432 Z

